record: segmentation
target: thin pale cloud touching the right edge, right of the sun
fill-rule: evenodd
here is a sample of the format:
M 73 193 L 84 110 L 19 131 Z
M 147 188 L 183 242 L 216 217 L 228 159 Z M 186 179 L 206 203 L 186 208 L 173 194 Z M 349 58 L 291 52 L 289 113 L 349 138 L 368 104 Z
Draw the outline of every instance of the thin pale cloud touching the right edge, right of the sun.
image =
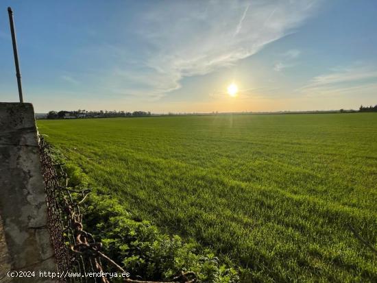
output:
M 329 73 L 313 77 L 308 84 L 297 89 L 297 91 L 309 97 L 376 93 L 377 69 L 372 66 L 332 69 Z

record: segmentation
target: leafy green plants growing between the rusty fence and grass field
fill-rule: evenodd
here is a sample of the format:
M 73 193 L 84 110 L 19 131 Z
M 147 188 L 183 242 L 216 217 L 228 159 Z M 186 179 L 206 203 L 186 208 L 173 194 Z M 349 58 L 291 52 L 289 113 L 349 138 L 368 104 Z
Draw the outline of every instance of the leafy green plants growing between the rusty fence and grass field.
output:
M 80 167 L 68 162 L 64 171 L 69 186 L 88 186 L 88 177 Z M 123 264 L 132 278 L 169 280 L 180 271 L 193 271 L 197 282 L 239 282 L 231 262 L 224 264 L 209 250 L 201 251 L 197 244 L 185 243 L 180 236 L 162 234 L 149 221 L 135 220 L 117 199 L 101 194 L 100 189 L 95 192 L 83 204 L 86 230 L 93 232 L 105 254 Z

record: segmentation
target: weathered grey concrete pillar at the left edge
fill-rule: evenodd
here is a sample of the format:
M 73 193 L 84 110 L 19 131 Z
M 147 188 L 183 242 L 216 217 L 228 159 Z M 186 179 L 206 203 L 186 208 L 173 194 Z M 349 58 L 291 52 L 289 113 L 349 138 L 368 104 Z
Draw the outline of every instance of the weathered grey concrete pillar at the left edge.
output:
M 56 262 L 31 103 L 0 103 L 0 222 L 0 283 L 56 282 L 39 276 Z M 10 270 L 35 273 L 10 278 Z

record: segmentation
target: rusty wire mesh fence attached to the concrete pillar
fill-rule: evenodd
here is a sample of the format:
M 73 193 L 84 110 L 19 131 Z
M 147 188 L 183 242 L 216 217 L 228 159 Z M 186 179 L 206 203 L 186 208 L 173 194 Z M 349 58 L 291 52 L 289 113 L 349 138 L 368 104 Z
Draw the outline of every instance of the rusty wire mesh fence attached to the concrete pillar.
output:
M 110 283 L 105 275 L 99 277 L 69 276 L 69 274 L 104 273 L 104 267 L 119 273 L 126 271 L 101 251 L 92 234 L 86 232 L 82 225 L 80 205 L 90 190 L 75 190 L 68 186 L 68 176 L 64 164 L 55 164 L 51 147 L 45 139 L 39 137 L 42 173 L 45 179 L 47 216 L 50 239 L 55 251 L 59 282 L 101 282 Z M 103 264 L 104 262 L 104 264 Z M 109 271 L 108 271 L 109 272 Z M 193 272 L 180 273 L 165 283 L 194 283 L 197 277 Z M 128 283 L 158 283 L 152 281 L 124 278 Z

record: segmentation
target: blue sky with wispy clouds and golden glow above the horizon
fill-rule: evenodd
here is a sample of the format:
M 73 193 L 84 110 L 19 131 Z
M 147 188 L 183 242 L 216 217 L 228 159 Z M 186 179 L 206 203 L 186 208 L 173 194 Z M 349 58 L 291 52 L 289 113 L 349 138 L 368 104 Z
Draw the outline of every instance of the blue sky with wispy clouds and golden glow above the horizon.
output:
M 375 0 L 3 0 L 0 101 L 18 101 L 9 5 L 36 112 L 377 104 Z

